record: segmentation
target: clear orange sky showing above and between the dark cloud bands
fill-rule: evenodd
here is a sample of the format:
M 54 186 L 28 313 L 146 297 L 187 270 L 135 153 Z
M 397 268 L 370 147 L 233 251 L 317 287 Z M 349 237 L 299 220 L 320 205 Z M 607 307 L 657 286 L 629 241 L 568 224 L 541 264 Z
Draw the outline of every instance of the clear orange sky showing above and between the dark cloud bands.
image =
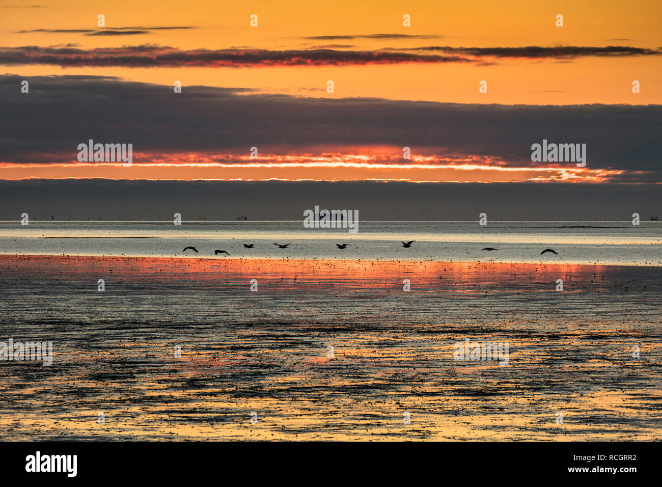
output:
M 630 46 L 657 49 L 662 45 L 662 2 L 621 1 L 191 1 L 81 0 L 11 2 L 0 9 L 0 45 L 57 46 L 75 44 L 78 49 L 118 48 L 140 44 L 171 46 L 180 50 L 254 48 L 307 50 L 332 48 L 381 52 L 421 46 L 521 47 L 521 46 Z M 25 7 L 22 7 L 25 3 Z M 96 36 L 81 32 L 23 32 L 21 30 L 97 30 L 97 15 L 105 15 L 105 28 L 193 27 L 182 30 L 148 30 L 144 34 Z M 258 15 L 258 27 L 250 27 L 250 15 Z M 402 16 L 410 15 L 411 27 Z M 555 26 L 557 14 L 563 27 Z M 407 34 L 429 38 L 369 38 L 371 34 Z M 313 36 L 351 36 L 309 39 Z M 358 37 L 357 37 L 358 36 Z M 429 53 L 428 53 L 429 54 Z M 482 59 L 482 58 L 481 58 Z M 85 74 L 119 76 L 171 86 L 211 85 L 247 87 L 265 93 L 303 97 L 382 97 L 452 103 L 502 103 L 565 105 L 581 103 L 662 103 L 662 56 L 583 56 L 577 58 L 485 58 L 480 62 L 404 63 L 350 66 L 289 66 L 249 68 L 122 66 L 62 68 L 48 64 L 3 66 L 3 72 L 30 76 Z M 327 93 L 326 82 L 335 92 Z M 487 81 L 487 93 L 479 93 L 479 81 Z M 632 81 L 641 92 L 632 93 Z M 401 149 L 399 149 L 401 150 Z M 370 154 L 367 154 L 368 156 Z M 470 154 L 467 154 L 470 155 Z M 0 161 L 3 162 L 3 161 Z M 48 162 L 48 161 L 44 161 Z M 75 158 L 72 162 L 75 162 Z M 184 164 L 184 163 L 182 163 Z M 154 168 L 154 166 L 153 166 Z M 305 166 L 304 166 L 305 168 Z M 402 174 L 409 171 L 410 174 Z M 411 174 L 415 171 L 416 174 Z M 557 171 L 545 172 L 550 180 L 573 179 Z M 465 172 L 465 174 L 456 174 Z M 141 170 L 154 179 L 193 179 L 193 172 Z M 579 174 L 579 172 L 573 171 Z M 108 168 L 12 168 L 0 166 L 0 178 L 118 177 Z M 218 176 L 220 174 L 220 176 Z M 338 174 L 336 171 L 335 174 Z M 535 180 L 541 174 L 530 170 L 500 174 L 475 168 L 431 170 L 355 168 L 350 179 L 395 178 L 404 180 Z M 285 168 L 261 170 L 221 169 L 195 172 L 197 178 L 330 179 L 328 170 L 310 166 L 296 171 Z M 216 175 L 216 176 L 215 176 Z M 146 177 L 145 176 L 145 177 Z M 544 176 L 544 175 L 543 175 Z M 142 177 L 142 176 L 138 176 Z M 545 176 L 546 177 L 546 176 Z M 594 174 L 592 180 L 600 181 Z

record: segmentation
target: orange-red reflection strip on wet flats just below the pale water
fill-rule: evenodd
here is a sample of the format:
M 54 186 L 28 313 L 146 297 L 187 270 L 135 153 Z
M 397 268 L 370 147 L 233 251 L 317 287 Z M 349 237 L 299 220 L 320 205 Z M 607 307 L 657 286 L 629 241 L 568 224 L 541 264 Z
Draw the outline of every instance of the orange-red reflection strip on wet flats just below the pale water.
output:
M 261 277 L 299 284 L 343 282 L 373 288 L 400 279 L 417 282 L 505 283 L 525 276 L 552 282 L 563 276 L 590 275 L 599 280 L 611 266 L 597 264 L 531 264 L 503 262 L 412 262 L 405 260 L 311 260 L 242 258 L 173 258 L 116 256 L 0 255 L 0 266 L 20 272 L 72 275 L 115 273 L 124 278 L 154 280 L 241 280 Z

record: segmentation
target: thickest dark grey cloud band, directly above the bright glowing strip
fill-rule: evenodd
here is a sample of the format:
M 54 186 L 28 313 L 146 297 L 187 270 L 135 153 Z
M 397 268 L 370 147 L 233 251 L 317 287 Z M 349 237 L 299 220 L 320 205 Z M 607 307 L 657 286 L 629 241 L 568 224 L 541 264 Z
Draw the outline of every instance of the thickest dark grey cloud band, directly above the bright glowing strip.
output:
M 21 93 L 21 81 L 30 93 Z M 531 162 L 546 139 L 587 144 L 587 168 L 624 180 L 662 181 L 662 105 L 479 105 L 267 95 L 250 89 L 122 81 L 112 77 L 0 76 L 0 161 L 48 162 L 88 139 L 132 143 L 136 152 L 342 152 L 393 147 L 402 154 Z M 381 149 L 380 149 L 381 150 Z M 356 152 L 352 152 L 356 153 Z M 50 156 L 49 156 L 50 154 Z

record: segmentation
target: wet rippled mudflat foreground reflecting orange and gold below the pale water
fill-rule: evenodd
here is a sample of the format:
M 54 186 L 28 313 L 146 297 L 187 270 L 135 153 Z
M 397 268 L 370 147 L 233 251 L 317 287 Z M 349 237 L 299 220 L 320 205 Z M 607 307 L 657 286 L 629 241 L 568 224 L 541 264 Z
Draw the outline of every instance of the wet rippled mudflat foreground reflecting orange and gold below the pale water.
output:
M 660 439 L 661 278 L 2 255 L 0 341 L 52 341 L 54 361 L 0 362 L 0 425 L 7 440 Z M 507 342 L 508 365 L 453 360 L 467 338 Z

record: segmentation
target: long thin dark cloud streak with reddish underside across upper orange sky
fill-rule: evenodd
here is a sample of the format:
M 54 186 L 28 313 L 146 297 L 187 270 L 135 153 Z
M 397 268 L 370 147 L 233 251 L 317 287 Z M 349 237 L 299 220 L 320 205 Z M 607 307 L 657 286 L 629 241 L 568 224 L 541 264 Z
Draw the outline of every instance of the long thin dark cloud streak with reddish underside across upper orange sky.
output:
M 89 36 L 145 34 L 150 30 L 93 30 Z M 418 51 L 418 52 L 412 52 Z M 436 52 L 432 52 L 436 51 Z M 441 54 L 439 54 L 441 53 Z M 62 67 L 124 66 L 242 68 L 248 66 L 349 66 L 401 63 L 477 63 L 498 58 L 577 58 L 579 56 L 651 56 L 662 50 L 627 46 L 545 48 L 450 48 L 428 46 L 414 49 L 365 50 L 267 50 L 220 49 L 180 50 L 143 44 L 118 48 L 53 48 L 40 46 L 0 48 L 0 64 L 6 66 L 50 64 Z

